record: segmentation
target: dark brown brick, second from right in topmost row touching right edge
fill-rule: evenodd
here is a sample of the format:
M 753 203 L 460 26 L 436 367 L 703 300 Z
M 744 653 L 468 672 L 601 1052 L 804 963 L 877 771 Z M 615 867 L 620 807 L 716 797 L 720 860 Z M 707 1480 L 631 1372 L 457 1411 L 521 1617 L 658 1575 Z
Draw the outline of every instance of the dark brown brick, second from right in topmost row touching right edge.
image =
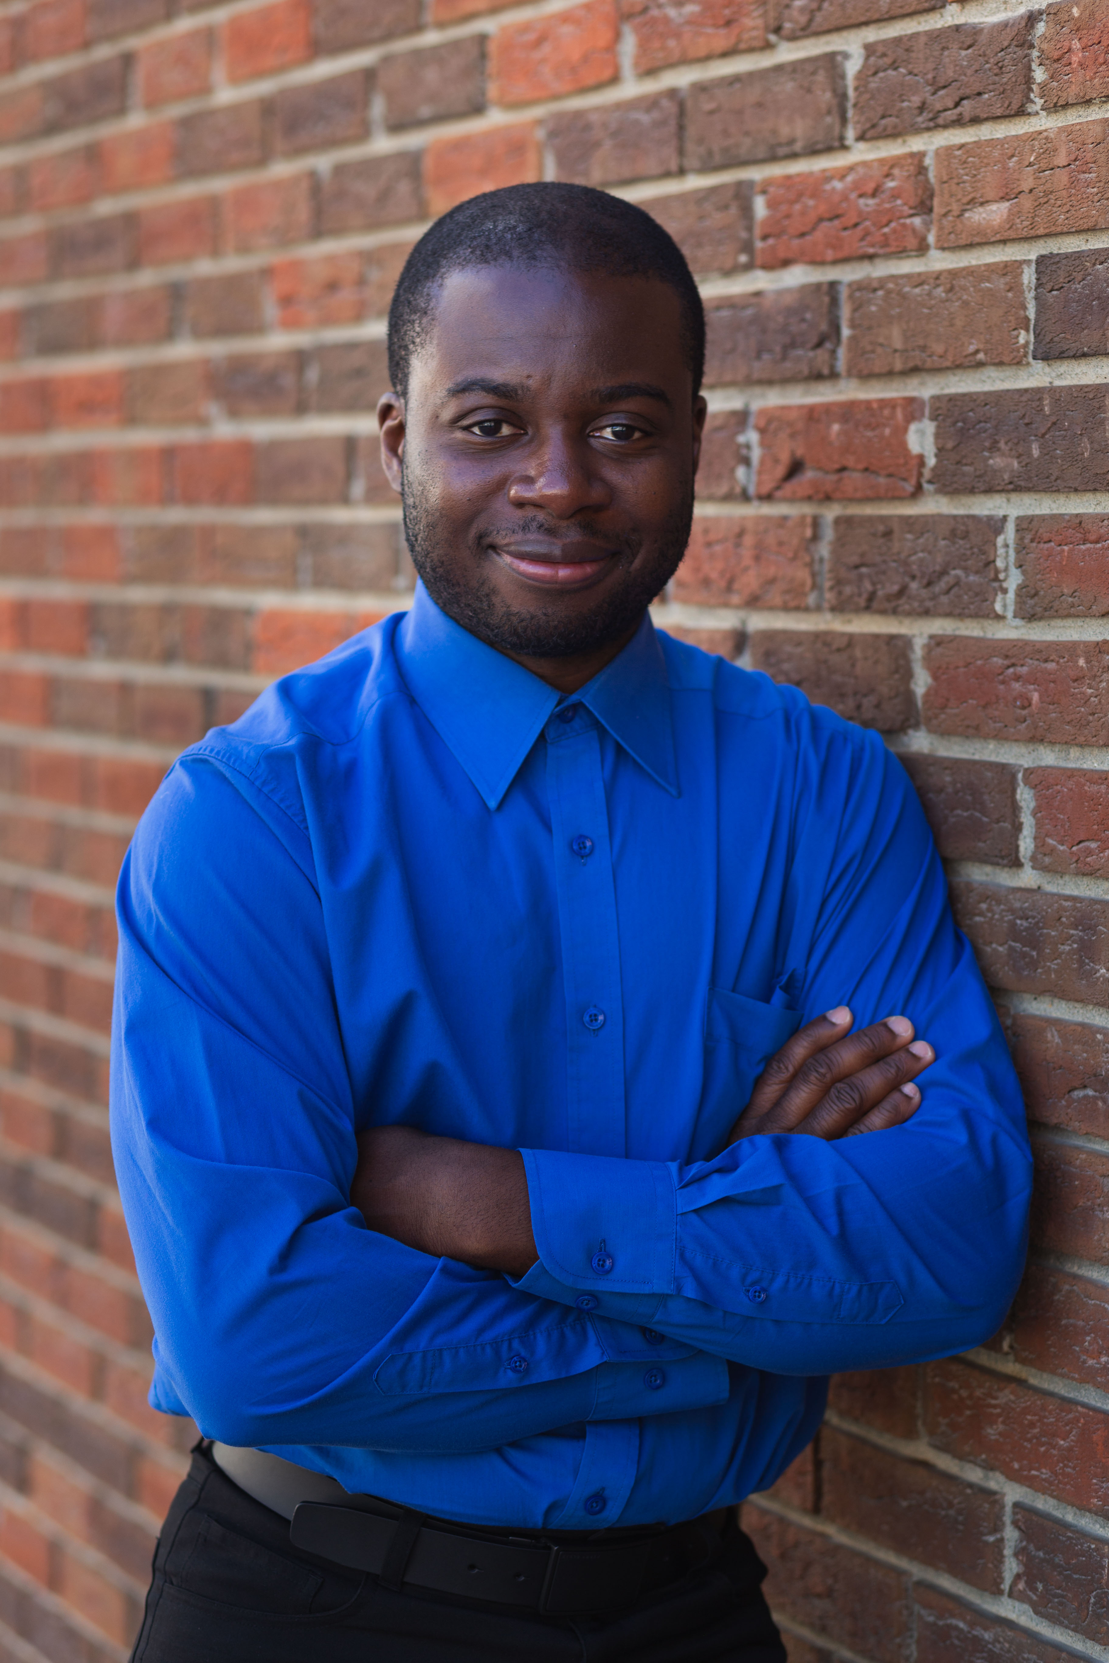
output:
M 1033 93 L 1033 15 L 873 40 L 855 76 L 856 138 L 1019 115 Z

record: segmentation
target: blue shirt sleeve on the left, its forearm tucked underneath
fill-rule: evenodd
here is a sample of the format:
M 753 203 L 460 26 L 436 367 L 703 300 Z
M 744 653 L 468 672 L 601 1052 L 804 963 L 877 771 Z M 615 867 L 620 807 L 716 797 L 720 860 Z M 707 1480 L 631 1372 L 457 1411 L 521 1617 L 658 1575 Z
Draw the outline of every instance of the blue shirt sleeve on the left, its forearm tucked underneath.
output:
M 349 1204 L 357 1124 L 311 843 L 193 753 L 118 891 L 111 1128 L 155 1324 L 151 1402 L 238 1445 L 495 1448 L 658 1414 L 637 1329 L 437 1261 Z M 572 1302 L 570 1302 L 572 1305 Z M 667 1409 L 728 1395 L 667 1347 Z

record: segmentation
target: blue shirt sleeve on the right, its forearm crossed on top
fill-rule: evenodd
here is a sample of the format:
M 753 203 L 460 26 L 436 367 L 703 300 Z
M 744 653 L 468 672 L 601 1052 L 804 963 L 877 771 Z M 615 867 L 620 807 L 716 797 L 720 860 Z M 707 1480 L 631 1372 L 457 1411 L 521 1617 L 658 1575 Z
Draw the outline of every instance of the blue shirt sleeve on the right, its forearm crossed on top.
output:
M 1024 1262 L 1019 1088 L 896 758 L 856 735 L 853 768 L 816 770 L 798 822 L 783 984 L 801 1019 L 909 1016 L 936 1049 L 921 1108 L 891 1131 L 757 1136 L 697 1162 L 524 1151 L 540 1261 L 514 1285 L 587 1292 L 778 1374 L 948 1355 L 996 1332 Z

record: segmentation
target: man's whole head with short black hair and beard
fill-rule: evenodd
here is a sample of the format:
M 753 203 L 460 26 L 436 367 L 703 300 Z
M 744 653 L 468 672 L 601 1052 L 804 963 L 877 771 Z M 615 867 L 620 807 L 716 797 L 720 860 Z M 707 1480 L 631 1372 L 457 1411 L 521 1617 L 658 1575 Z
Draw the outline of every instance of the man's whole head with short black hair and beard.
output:
M 705 323 L 632 203 L 519 185 L 421 238 L 389 313 L 382 459 L 439 605 L 557 683 L 630 637 L 688 537 Z

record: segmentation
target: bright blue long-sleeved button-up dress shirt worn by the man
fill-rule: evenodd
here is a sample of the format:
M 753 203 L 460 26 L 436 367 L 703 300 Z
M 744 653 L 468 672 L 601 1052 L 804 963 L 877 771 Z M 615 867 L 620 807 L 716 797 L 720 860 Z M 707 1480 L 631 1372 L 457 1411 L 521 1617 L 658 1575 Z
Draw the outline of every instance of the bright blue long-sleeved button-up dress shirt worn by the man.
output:
M 770 1485 L 825 1375 L 1018 1282 L 1019 1091 L 875 733 L 657 634 L 559 695 L 417 589 L 175 763 L 120 880 L 113 1137 L 151 1402 L 426 1512 L 592 1528 Z M 850 1003 L 896 1131 L 722 1149 Z M 524 1151 L 539 1262 L 349 1204 L 366 1126 Z

